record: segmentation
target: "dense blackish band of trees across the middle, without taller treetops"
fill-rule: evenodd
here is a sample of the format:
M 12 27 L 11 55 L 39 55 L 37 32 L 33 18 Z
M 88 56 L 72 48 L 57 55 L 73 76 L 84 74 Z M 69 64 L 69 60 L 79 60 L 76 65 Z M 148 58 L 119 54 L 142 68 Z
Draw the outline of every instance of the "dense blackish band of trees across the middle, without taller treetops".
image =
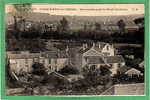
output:
M 11 34 L 11 33 L 10 33 Z M 30 31 L 18 33 L 21 39 L 63 39 L 63 40 L 93 40 L 113 43 L 144 43 L 144 29 L 132 33 L 113 33 L 96 31 L 83 31 L 59 33 L 58 31 L 49 31 L 41 34 L 40 32 Z M 12 34 L 13 35 L 13 34 Z M 14 36 L 9 36 L 12 39 Z

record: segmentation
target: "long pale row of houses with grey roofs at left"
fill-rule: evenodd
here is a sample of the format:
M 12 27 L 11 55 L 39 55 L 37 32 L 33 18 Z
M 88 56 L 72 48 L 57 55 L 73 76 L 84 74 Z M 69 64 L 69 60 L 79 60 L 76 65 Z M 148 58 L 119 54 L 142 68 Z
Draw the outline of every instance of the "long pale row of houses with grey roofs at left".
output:
M 45 51 L 40 53 L 30 53 L 28 51 L 8 52 L 7 58 L 12 71 L 19 74 L 21 72 L 31 72 L 35 62 L 42 63 L 49 71 L 58 71 L 68 64 L 65 52 Z

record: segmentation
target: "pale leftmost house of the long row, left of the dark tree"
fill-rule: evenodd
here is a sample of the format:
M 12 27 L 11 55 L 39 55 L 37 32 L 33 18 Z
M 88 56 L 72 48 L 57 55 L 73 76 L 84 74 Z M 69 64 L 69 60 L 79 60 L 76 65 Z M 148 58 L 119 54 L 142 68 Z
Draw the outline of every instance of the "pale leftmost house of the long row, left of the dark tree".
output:
M 39 57 L 40 53 L 29 53 L 28 51 L 7 53 L 10 69 L 17 74 L 31 72 L 33 63 L 37 62 Z

